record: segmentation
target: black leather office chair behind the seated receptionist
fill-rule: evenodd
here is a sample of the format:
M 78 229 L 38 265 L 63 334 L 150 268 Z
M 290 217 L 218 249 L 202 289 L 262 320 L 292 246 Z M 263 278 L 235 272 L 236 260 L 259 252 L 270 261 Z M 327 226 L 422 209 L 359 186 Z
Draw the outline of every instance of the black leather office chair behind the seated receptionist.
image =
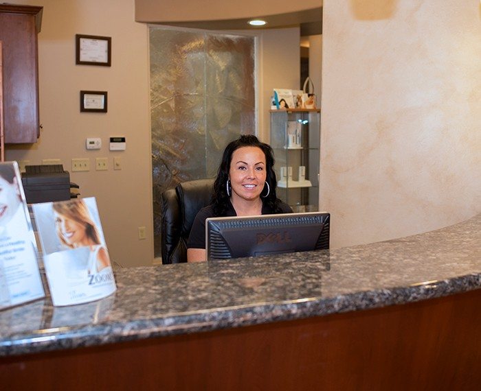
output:
M 179 183 L 161 195 L 162 263 L 187 262 L 187 241 L 194 218 L 210 204 L 213 179 L 197 179 Z

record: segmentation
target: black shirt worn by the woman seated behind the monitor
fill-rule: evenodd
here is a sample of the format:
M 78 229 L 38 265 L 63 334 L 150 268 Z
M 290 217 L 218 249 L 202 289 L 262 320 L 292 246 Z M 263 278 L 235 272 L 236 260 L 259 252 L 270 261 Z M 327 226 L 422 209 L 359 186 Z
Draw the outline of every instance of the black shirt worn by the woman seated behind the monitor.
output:
M 284 204 L 284 202 L 280 202 L 279 208 L 281 209 L 280 213 L 292 213 L 291 206 Z M 273 213 L 276 212 L 266 204 L 262 204 L 262 215 L 272 215 Z M 234 217 L 236 215 L 234 206 L 229 202 L 227 212 L 225 215 L 219 217 Z M 212 205 L 205 206 L 195 216 L 195 220 L 192 223 L 192 229 L 190 230 L 187 248 L 205 248 L 205 219 L 208 219 L 209 217 L 214 217 Z

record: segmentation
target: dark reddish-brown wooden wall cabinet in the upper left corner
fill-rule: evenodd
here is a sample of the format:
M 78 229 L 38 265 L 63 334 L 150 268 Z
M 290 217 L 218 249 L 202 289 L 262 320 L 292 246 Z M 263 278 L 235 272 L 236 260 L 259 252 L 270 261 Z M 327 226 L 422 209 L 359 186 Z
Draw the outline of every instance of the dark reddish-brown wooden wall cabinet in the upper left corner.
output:
M 39 137 L 38 49 L 43 7 L 0 4 L 5 143 Z

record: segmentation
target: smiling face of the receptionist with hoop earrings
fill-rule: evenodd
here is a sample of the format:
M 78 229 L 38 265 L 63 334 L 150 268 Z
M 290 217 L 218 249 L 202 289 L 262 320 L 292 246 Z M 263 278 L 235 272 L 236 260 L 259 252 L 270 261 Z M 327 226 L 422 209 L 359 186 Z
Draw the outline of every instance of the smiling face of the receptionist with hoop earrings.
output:
M 232 154 L 229 178 L 232 198 L 256 200 L 267 176 L 264 152 L 259 147 L 240 147 Z

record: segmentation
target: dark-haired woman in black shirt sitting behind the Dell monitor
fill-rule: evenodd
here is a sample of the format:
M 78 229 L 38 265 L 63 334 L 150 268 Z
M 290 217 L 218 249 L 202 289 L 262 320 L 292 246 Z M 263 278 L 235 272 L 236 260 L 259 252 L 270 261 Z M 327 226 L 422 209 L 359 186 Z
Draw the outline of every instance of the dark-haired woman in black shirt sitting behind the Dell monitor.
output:
M 243 135 L 225 147 L 214 182 L 212 204 L 201 209 L 190 231 L 188 262 L 205 261 L 205 219 L 291 213 L 276 196 L 276 173 L 270 145 Z

